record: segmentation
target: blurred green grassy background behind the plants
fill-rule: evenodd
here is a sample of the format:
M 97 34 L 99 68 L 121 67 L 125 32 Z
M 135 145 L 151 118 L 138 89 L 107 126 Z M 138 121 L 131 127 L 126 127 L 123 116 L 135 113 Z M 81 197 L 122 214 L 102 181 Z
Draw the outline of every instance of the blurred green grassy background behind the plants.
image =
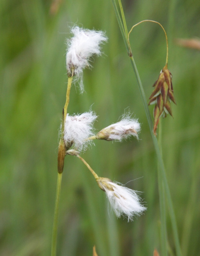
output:
M 200 2 L 123 1 L 127 26 L 159 21 L 169 40 L 174 118 L 162 121 L 163 155 L 183 256 L 199 255 L 200 51 L 176 38 L 199 36 Z M 70 26 L 106 31 L 108 43 L 84 71 L 85 92 L 73 86 L 70 114 L 92 110 L 98 130 L 130 109 L 140 140 L 95 141 L 82 156 L 101 177 L 143 191 L 147 211 L 133 222 L 116 219 L 85 165 L 65 158 L 58 255 L 153 255 L 160 251 L 157 161 L 142 99 L 111 1 L 0 1 L 0 255 L 50 255 L 57 180 L 58 129 L 65 103 L 65 40 Z M 166 41 L 153 23 L 134 28 L 133 56 L 146 98 L 165 65 Z M 151 106 L 151 112 L 153 107 Z M 167 204 L 166 204 L 167 208 Z M 174 239 L 167 211 L 170 255 Z

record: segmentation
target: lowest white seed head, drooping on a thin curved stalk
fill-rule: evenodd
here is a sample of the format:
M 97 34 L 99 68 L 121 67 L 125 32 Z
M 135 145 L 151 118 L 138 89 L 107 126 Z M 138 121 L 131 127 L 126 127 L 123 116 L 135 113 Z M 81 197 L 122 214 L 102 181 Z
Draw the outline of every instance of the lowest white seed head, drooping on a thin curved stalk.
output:
M 117 217 L 123 216 L 129 221 L 146 210 L 146 207 L 141 204 L 141 198 L 137 195 L 136 191 L 126 188 L 120 183 L 112 182 L 107 178 L 99 177 L 97 183 L 106 192 L 107 198 Z

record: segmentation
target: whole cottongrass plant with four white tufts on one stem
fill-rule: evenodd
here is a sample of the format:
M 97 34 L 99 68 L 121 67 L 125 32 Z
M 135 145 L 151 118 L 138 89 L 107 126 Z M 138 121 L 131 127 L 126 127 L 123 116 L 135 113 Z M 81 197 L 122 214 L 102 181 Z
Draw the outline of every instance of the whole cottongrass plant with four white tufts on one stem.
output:
M 79 81 L 80 91 L 83 92 L 83 69 L 91 67 L 91 57 L 94 54 L 100 55 L 100 45 L 107 41 L 107 37 L 102 31 L 88 30 L 76 26 L 71 29 L 71 33 L 73 36 L 67 41 L 66 66 L 68 84 L 60 131 L 61 139 L 58 147 L 58 179 L 51 256 L 56 255 L 58 209 L 64 158 L 66 155 L 77 156 L 87 166 L 96 179 L 98 186 L 106 192 L 107 198 L 117 217 L 123 216 L 129 221 L 133 220 L 135 215 L 138 216 L 146 210 L 141 203 L 141 198 L 137 195 L 137 191 L 126 188 L 118 182 L 112 182 L 108 178 L 99 177 L 90 165 L 80 156 L 80 153 L 86 150 L 88 144 L 92 143 L 95 139 L 121 141 L 130 136 L 134 136 L 138 139 L 140 124 L 137 119 L 131 118 L 130 113 L 127 113 L 122 116 L 121 121 L 111 124 L 95 134 L 93 123 L 97 118 L 96 113 L 92 110 L 77 115 L 69 115 L 67 113 L 73 78 L 75 77 L 74 81 Z

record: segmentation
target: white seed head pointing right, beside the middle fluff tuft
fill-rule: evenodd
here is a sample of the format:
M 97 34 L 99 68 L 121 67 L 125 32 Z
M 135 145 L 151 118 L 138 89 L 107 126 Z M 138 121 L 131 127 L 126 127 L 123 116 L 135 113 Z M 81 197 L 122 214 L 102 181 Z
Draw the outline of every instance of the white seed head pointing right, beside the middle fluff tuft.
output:
M 122 116 L 122 120 L 107 126 L 97 133 L 101 140 L 122 140 L 130 136 L 138 139 L 138 132 L 140 131 L 140 124 L 137 119 L 131 118 L 130 114 Z

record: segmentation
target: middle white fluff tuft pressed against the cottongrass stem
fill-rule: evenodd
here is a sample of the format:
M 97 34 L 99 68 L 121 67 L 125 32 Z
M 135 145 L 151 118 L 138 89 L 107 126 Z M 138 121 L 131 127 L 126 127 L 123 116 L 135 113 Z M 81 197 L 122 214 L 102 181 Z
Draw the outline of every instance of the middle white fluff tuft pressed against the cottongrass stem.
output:
M 85 139 L 94 135 L 93 122 L 96 118 L 97 116 L 93 111 L 77 116 L 67 114 L 64 126 L 65 143 L 73 143 L 78 150 L 85 150 L 88 143 L 90 143 Z

